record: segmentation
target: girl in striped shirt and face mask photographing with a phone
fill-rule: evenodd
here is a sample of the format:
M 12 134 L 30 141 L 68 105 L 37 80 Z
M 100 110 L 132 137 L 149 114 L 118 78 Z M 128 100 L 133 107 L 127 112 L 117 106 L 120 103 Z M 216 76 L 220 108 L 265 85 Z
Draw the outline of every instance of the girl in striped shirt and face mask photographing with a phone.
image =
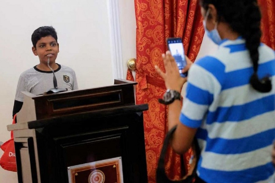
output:
M 200 5 L 205 31 L 219 48 L 190 67 L 182 109 L 180 100 L 169 104 L 168 127 L 178 125 L 171 145 L 183 153 L 196 136 L 197 173 L 206 182 L 268 182 L 274 172 L 275 52 L 260 43 L 259 6 L 256 0 Z M 186 79 L 170 52 L 163 60 L 166 73 L 156 70 L 167 92 L 179 93 Z

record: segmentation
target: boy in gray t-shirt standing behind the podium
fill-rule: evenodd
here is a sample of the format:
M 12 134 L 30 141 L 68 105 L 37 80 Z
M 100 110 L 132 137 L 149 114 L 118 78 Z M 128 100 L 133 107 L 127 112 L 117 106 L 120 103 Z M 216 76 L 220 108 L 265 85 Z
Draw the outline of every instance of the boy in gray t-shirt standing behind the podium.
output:
M 49 66 L 54 70 L 58 88 L 78 89 L 75 71 L 55 63 L 59 52 L 55 29 L 51 26 L 39 27 L 31 35 L 31 41 L 32 52 L 39 57 L 39 64 L 20 75 L 13 105 L 13 116 L 20 111 L 23 105 L 24 95 L 21 91 L 39 95 L 53 88 L 53 72 L 48 67 L 48 59 L 50 60 Z

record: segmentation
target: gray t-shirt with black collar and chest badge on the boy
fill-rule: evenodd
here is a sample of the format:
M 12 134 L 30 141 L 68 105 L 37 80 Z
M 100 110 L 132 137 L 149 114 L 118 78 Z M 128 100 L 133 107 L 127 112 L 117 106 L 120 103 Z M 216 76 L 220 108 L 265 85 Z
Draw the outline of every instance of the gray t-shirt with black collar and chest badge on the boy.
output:
M 70 90 L 78 90 L 75 71 L 70 67 L 58 65 L 58 69 L 54 71 L 57 79 L 58 88 L 67 88 Z M 18 80 L 15 100 L 23 102 L 24 95 L 21 91 L 28 91 L 35 95 L 43 94 L 53 88 L 53 72 L 42 71 L 36 66 L 24 71 Z

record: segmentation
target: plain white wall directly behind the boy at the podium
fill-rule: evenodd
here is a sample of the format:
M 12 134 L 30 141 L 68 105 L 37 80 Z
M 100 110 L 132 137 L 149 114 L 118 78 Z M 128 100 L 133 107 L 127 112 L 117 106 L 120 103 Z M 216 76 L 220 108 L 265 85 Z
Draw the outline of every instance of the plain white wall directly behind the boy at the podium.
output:
M 112 84 L 113 73 L 107 1 L 1 0 L 0 4 L 0 141 L 5 142 L 19 75 L 39 63 L 31 52 L 36 28 L 52 25 L 57 30 L 57 63 L 75 70 L 80 89 Z M 17 175 L 0 167 L 0 182 L 15 183 Z

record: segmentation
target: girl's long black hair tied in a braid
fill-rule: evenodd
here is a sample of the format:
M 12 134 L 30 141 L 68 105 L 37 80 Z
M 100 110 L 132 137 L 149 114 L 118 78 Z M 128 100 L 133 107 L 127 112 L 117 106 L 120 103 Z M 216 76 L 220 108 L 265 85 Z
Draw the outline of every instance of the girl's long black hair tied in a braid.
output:
M 246 40 L 254 73 L 250 78 L 252 87 L 260 92 L 269 92 L 272 84 L 269 77 L 261 80 L 257 71 L 259 67 L 259 51 L 262 31 L 261 12 L 257 0 L 200 0 L 201 6 L 207 10 L 209 4 L 217 9 L 218 21 L 229 23 L 231 29 Z

